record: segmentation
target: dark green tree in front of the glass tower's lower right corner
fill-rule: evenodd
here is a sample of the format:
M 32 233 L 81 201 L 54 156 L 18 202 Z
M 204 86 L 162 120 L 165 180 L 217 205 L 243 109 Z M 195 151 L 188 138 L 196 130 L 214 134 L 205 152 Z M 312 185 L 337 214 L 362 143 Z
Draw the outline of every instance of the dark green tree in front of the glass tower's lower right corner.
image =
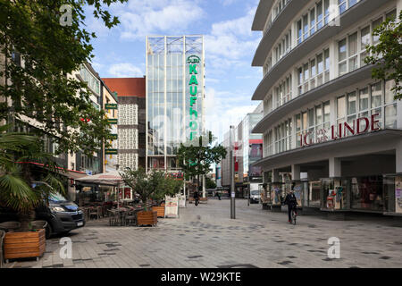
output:
M 213 141 L 214 135 L 208 131 L 194 141 L 186 142 L 186 145 L 180 144 L 177 153 L 180 167 L 187 180 L 197 176 L 197 189 L 199 176 L 207 174 L 212 164 L 219 164 L 226 157 L 226 148 L 221 145 L 212 147 Z

